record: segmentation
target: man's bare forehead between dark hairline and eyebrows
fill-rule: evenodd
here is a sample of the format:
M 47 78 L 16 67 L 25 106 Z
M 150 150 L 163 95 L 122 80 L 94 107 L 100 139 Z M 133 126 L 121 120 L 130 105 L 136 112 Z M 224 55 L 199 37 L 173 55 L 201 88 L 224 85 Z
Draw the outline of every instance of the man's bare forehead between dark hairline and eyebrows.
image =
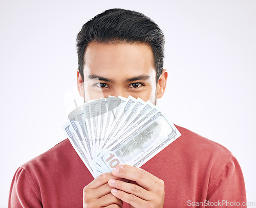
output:
M 131 76 L 155 72 L 152 48 L 145 43 L 91 42 L 84 54 L 84 76 Z

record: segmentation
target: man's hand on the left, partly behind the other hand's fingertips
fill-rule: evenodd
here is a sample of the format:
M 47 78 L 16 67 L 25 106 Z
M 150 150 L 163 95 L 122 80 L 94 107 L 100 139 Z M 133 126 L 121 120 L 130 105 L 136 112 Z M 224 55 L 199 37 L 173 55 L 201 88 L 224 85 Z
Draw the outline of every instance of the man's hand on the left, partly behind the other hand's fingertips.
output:
M 118 181 L 124 180 L 113 176 L 112 173 L 103 173 L 95 178 L 90 184 L 83 188 L 83 208 L 122 207 L 122 200 L 113 196 L 111 193 L 112 188 L 108 185 L 110 179 Z

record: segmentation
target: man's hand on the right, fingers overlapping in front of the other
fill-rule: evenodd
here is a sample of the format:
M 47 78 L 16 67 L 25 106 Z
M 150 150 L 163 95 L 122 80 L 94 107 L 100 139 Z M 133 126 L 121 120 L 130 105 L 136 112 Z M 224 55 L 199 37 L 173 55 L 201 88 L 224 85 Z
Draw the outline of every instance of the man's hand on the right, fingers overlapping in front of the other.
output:
M 109 186 L 113 187 L 111 193 L 122 201 L 129 203 L 130 207 L 163 207 L 163 180 L 141 168 L 129 165 L 118 165 L 112 174 L 119 178 L 135 181 L 138 184 L 126 183 L 114 178 L 109 180 Z

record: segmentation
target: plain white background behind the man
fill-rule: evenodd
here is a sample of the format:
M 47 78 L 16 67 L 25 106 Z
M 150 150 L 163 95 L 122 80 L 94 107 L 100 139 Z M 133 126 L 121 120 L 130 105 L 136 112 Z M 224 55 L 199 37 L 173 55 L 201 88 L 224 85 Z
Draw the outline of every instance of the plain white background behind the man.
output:
M 227 147 L 243 170 L 247 200 L 256 201 L 256 1 L 1 0 L 0 207 L 15 170 L 66 138 L 76 34 L 110 8 L 159 24 L 169 72 L 160 107 L 175 124 Z

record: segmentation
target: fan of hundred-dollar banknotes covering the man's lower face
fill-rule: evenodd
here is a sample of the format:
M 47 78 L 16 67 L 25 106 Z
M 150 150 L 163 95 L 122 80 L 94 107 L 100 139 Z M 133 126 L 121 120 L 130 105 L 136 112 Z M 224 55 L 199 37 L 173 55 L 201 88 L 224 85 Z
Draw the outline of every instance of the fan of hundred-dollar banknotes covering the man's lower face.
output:
M 181 134 L 150 101 L 109 96 L 84 103 L 63 131 L 93 177 L 118 164 L 140 167 Z

